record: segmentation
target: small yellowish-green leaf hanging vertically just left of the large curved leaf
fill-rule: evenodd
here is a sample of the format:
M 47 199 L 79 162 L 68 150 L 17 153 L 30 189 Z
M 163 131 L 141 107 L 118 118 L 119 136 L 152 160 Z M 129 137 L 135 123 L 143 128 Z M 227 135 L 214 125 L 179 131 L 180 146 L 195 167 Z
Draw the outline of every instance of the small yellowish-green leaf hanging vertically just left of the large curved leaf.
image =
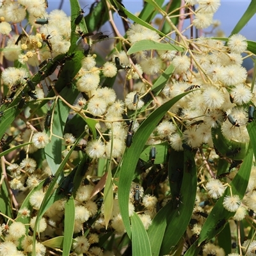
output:
M 113 185 L 112 185 L 112 175 L 111 170 L 108 171 L 108 177 L 106 180 L 106 186 L 104 189 L 104 220 L 106 228 L 108 227 L 109 220 L 112 216 L 113 205 L 114 205 L 114 195 L 113 195 Z

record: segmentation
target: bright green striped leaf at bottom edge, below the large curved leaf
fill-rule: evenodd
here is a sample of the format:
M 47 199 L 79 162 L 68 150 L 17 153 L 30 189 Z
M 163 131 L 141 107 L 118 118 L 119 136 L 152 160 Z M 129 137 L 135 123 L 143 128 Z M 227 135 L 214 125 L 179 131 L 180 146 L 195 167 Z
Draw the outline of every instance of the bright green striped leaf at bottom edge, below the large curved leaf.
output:
M 131 216 L 132 229 L 132 255 L 134 256 L 150 256 L 152 255 L 147 232 L 140 217 L 134 212 Z

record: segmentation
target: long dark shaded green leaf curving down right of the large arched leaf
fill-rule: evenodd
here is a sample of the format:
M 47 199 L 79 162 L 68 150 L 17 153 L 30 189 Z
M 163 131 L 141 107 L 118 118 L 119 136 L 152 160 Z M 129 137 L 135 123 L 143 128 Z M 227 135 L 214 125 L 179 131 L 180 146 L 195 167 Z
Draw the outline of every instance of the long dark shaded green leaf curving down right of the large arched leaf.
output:
M 170 155 L 172 156 L 172 152 Z M 174 156 L 176 155 L 174 154 Z M 176 164 L 177 161 L 174 161 L 173 165 L 176 166 Z M 170 253 L 170 250 L 177 246 L 186 231 L 195 205 L 196 185 L 194 154 L 185 150 L 182 185 L 180 191 L 173 195 L 173 211 L 169 209 L 160 255 Z

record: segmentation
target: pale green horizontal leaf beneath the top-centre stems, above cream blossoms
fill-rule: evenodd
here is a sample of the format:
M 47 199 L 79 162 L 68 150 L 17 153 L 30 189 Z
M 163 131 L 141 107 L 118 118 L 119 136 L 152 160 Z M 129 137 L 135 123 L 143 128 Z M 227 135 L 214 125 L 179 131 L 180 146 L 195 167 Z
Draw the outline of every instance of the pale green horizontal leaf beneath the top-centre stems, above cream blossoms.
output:
M 147 50 L 160 50 L 160 51 L 184 51 L 182 47 L 173 44 L 163 44 L 152 40 L 141 40 L 136 42 L 127 51 L 127 54 L 132 54 L 134 52 L 147 51 Z

